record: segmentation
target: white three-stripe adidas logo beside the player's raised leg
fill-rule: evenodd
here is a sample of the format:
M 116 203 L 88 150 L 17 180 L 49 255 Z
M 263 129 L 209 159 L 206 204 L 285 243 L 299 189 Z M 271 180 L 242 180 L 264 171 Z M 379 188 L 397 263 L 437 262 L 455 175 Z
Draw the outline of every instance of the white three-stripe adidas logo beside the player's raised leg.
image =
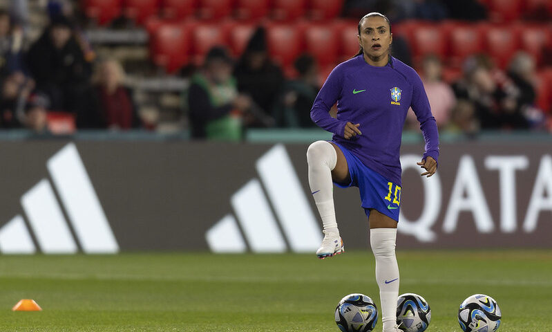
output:
M 251 179 L 231 196 L 236 217 L 227 214 L 205 234 L 209 248 L 213 252 L 245 252 L 241 228 L 253 252 L 284 252 L 287 243 L 294 252 L 318 249 L 321 231 L 285 147 L 276 145 L 267 151 L 257 160 L 256 169 L 260 181 Z

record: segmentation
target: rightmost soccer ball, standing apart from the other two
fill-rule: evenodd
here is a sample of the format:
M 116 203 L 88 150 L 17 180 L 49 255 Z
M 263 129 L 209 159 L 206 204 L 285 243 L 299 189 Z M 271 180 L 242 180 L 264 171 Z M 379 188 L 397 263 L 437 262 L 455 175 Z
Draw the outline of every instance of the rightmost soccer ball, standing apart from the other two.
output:
M 471 295 L 460 304 L 458 322 L 464 332 L 494 332 L 500 326 L 502 313 L 493 297 Z

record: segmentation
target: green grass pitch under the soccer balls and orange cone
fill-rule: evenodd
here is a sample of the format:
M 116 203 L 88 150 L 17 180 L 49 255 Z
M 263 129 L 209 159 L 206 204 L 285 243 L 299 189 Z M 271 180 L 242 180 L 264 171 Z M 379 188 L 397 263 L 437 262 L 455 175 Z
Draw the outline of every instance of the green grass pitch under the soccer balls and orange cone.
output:
M 502 309 L 500 332 L 552 331 L 552 250 L 397 253 L 401 293 L 432 309 L 429 332 L 459 332 L 474 293 Z M 379 306 L 374 259 L 312 255 L 123 254 L 0 257 L 0 331 L 337 332 L 349 293 Z M 12 312 L 19 299 L 41 312 Z M 381 321 L 376 330 L 381 331 Z

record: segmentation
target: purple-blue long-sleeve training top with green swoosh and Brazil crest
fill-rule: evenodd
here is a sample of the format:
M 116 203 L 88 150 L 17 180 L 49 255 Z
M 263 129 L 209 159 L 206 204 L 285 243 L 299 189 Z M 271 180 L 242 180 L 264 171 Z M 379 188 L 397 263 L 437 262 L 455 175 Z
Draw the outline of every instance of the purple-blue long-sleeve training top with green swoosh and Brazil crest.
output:
M 336 102 L 337 118 L 332 118 L 328 112 Z M 426 140 L 422 158 L 431 156 L 437 161 L 439 133 L 426 91 L 416 71 L 394 57 L 382 67 L 367 64 L 363 55 L 336 66 L 318 92 L 310 115 L 364 165 L 401 185 L 401 137 L 409 107 Z M 359 123 L 362 135 L 343 138 L 347 122 Z

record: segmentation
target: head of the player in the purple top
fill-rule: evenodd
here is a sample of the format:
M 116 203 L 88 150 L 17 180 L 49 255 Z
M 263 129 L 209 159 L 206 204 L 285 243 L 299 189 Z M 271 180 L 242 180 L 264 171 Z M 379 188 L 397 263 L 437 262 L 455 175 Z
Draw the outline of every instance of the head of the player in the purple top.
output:
M 371 16 L 363 19 L 359 44 L 364 53 L 372 59 L 387 57 L 393 36 L 386 19 L 380 16 Z

